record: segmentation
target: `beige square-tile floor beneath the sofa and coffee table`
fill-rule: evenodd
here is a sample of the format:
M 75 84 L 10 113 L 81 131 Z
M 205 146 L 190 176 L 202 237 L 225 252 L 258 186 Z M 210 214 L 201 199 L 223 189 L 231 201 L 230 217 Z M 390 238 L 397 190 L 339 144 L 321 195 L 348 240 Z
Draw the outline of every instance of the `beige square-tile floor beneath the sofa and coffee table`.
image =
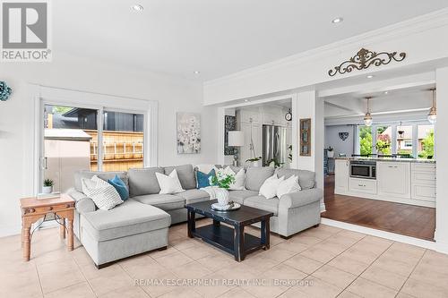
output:
M 199 226 L 209 224 L 207 219 Z M 259 230 L 249 228 L 248 233 Z M 135 285 L 135 279 L 230 279 L 227 285 Z M 238 284 L 248 280 L 249 284 Z M 281 281 L 276 283 L 275 280 Z M 263 281 L 263 285 L 254 285 Z M 0 297 L 448 297 L 448 255 L 321 225 L 241 263 L 169 230 L 169 247 L 98 270 L 80 243 L 66 251 L 58 229 L 32 239 L 29 262 L 20 236 L 0 238 Z

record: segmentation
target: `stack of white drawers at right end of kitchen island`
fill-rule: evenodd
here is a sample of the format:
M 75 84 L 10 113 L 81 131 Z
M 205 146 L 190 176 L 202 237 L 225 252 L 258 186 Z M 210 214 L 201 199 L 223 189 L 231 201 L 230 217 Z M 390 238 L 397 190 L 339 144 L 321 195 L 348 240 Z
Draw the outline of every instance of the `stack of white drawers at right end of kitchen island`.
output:
M 411 199 L 435 202 L 435 165 L 413 164 L 411 173 Z

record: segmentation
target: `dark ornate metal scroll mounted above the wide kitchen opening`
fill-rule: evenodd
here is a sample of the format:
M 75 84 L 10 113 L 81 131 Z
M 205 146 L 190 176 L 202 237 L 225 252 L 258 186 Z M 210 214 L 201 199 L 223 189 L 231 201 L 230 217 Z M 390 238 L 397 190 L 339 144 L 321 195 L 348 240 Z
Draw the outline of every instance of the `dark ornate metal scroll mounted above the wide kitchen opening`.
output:
M 398 56 L 397 56 L 398 55 Z M 385 64 L 390 64 L 393 61 L 401 62 L 406 58 L 406 53 L 397 52 L 387 53 L 387 52 L 372 52 L 366 48 L 361 48 L 357 55 L 349 58 L 349 60 L 342 62 L 339 66 L 335 66 L 334 69 L 328 71 L 328 74 L 332 77 L 336 73 L 344 74 L 346 72 L 351 72 L 354 69 L 358 71 L 366 69 L 371 65 L 381 66 Z

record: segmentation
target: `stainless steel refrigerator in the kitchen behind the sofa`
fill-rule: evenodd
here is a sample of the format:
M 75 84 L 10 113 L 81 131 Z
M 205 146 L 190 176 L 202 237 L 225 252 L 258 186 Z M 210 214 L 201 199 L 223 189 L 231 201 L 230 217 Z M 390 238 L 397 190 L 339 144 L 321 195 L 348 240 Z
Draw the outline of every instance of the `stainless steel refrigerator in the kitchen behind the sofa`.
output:
M 288 162 L 287 129 L 277 125 L 263 125 L 263 166 L 275 159 Z

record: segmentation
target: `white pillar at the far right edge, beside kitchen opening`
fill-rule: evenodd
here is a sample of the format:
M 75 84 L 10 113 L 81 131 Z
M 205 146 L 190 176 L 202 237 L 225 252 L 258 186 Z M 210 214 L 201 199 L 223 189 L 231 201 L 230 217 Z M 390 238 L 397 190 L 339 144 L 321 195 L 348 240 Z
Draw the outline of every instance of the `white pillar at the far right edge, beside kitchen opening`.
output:
M 448 253 L 448 67 L 437 69 L 436 77 L 436 98 L 437 98 L 437 123 L 435 142 L 436 150 L 442 154 L 437 154 L 437 188 L 435 203 L 435 242 L 438 251 Z M 447 132 L 445 132 L 445 130 Z

